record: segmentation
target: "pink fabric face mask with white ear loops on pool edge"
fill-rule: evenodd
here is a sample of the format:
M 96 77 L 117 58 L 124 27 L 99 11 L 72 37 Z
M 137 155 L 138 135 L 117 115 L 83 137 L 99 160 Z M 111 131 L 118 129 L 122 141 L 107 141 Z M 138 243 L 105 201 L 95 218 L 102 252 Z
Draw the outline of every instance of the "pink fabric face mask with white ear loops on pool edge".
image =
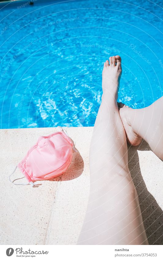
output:
M 73 143 L 63 129 L 62 132 L 41 136 L 17 167 L 33 186 L 37 180 L 52 179 L 63 174 L 71 163 L 72 148 Z

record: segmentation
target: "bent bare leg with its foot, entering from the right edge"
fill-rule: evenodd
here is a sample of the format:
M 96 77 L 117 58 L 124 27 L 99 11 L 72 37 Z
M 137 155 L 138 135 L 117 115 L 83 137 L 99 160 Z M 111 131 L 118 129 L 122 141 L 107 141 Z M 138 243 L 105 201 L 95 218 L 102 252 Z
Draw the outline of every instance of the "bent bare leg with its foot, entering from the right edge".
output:
M 132 109 L 122 104 L 120 107 L 128 143 L 139 145 L 143 138 L 163 160 L 163 97 L 142 109 Z

